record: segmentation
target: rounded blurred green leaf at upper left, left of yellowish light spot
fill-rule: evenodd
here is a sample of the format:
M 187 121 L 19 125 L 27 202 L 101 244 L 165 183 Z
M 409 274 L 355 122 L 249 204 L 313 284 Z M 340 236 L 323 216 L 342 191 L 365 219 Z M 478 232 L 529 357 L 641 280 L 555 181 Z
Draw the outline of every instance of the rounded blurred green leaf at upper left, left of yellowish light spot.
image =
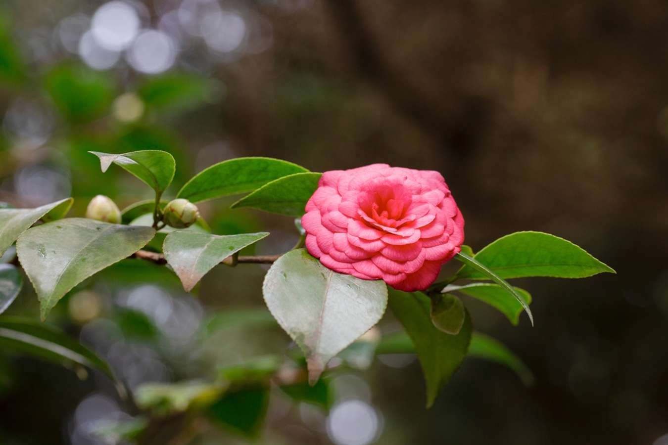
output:
M 116 96 L 109 73 L 80 65 L 58 65 L 47 73 L 45 87 L 55 106 L 73 122 L 104 115 Z

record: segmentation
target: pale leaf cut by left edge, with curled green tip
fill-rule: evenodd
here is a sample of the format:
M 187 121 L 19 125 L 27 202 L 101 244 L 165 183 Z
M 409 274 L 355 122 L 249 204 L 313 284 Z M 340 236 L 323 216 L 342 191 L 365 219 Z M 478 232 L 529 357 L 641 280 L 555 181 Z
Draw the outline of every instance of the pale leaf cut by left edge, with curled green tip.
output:
M 65 216 L 73 201 L 68 197 L 35 209 L 0 209 L 0 254 L 40 218 L 51 221 Z

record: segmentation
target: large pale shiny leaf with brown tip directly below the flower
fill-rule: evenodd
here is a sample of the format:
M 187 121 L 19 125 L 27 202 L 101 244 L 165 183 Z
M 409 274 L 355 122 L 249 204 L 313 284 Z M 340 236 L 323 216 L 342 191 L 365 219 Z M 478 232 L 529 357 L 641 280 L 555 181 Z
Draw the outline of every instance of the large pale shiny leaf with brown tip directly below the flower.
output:
M 337 274 L 304 249 L 271 266 L 263 294 L 271 314 L 303 350 L 311 384 L 331 358 L 381 319 L 387 306 L 384 282 Z

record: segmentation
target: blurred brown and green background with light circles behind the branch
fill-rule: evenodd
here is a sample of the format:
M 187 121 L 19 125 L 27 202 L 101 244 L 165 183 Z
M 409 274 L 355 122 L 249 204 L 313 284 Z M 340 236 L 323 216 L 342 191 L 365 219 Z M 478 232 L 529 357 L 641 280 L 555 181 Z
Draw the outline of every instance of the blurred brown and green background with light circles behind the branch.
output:
M 667 3 L 5 0 L 0 12 L 0 201 L 71 195 L 80 216 L 98 193 L 120 207 L 151 197 L 88 150 L 169 151 L 172 196 L 238 156 L 313 171 L 387 162 L 441 171 L 476 250 L 540 230 L 618 272 L 517 280 L 535 328 L 466 301 L 532 388 L 467 360 L 425 410 L 419 364 L 391 357 L 335 374 L 329 414 L 273 396 L 260 443 L 668 444 Z M 214 233 L 269 230 L 259 254 L 297 240 L 291 219 L 230 202 L 200 207 Z M 265 271 L 218 266 L 193 297 L 166 268 L 127 260 L 49 322 L 131 388 L 203 378 L 287 348 L 276 330 L 200 338 L 226 308 L 261 308 Z M 30 286 L 9 312 L 37 314 Z M 102 444 L 92 425 L 129 417 L 103 376 L 5 353 L 0 413 L 3 444 Z M 244 443 L 226 430 L 189 440 L 173 443 Z

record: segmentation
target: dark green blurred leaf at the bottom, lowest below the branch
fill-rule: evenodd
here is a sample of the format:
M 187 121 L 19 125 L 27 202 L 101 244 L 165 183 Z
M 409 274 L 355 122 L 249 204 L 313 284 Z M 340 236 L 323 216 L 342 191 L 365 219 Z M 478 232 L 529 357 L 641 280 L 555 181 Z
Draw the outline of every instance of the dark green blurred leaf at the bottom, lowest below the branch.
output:
M 260 434 L 269 406 L 267 388 L 248 388 L 228 392 L 207 410 L 208 417 L 249 438 Z

